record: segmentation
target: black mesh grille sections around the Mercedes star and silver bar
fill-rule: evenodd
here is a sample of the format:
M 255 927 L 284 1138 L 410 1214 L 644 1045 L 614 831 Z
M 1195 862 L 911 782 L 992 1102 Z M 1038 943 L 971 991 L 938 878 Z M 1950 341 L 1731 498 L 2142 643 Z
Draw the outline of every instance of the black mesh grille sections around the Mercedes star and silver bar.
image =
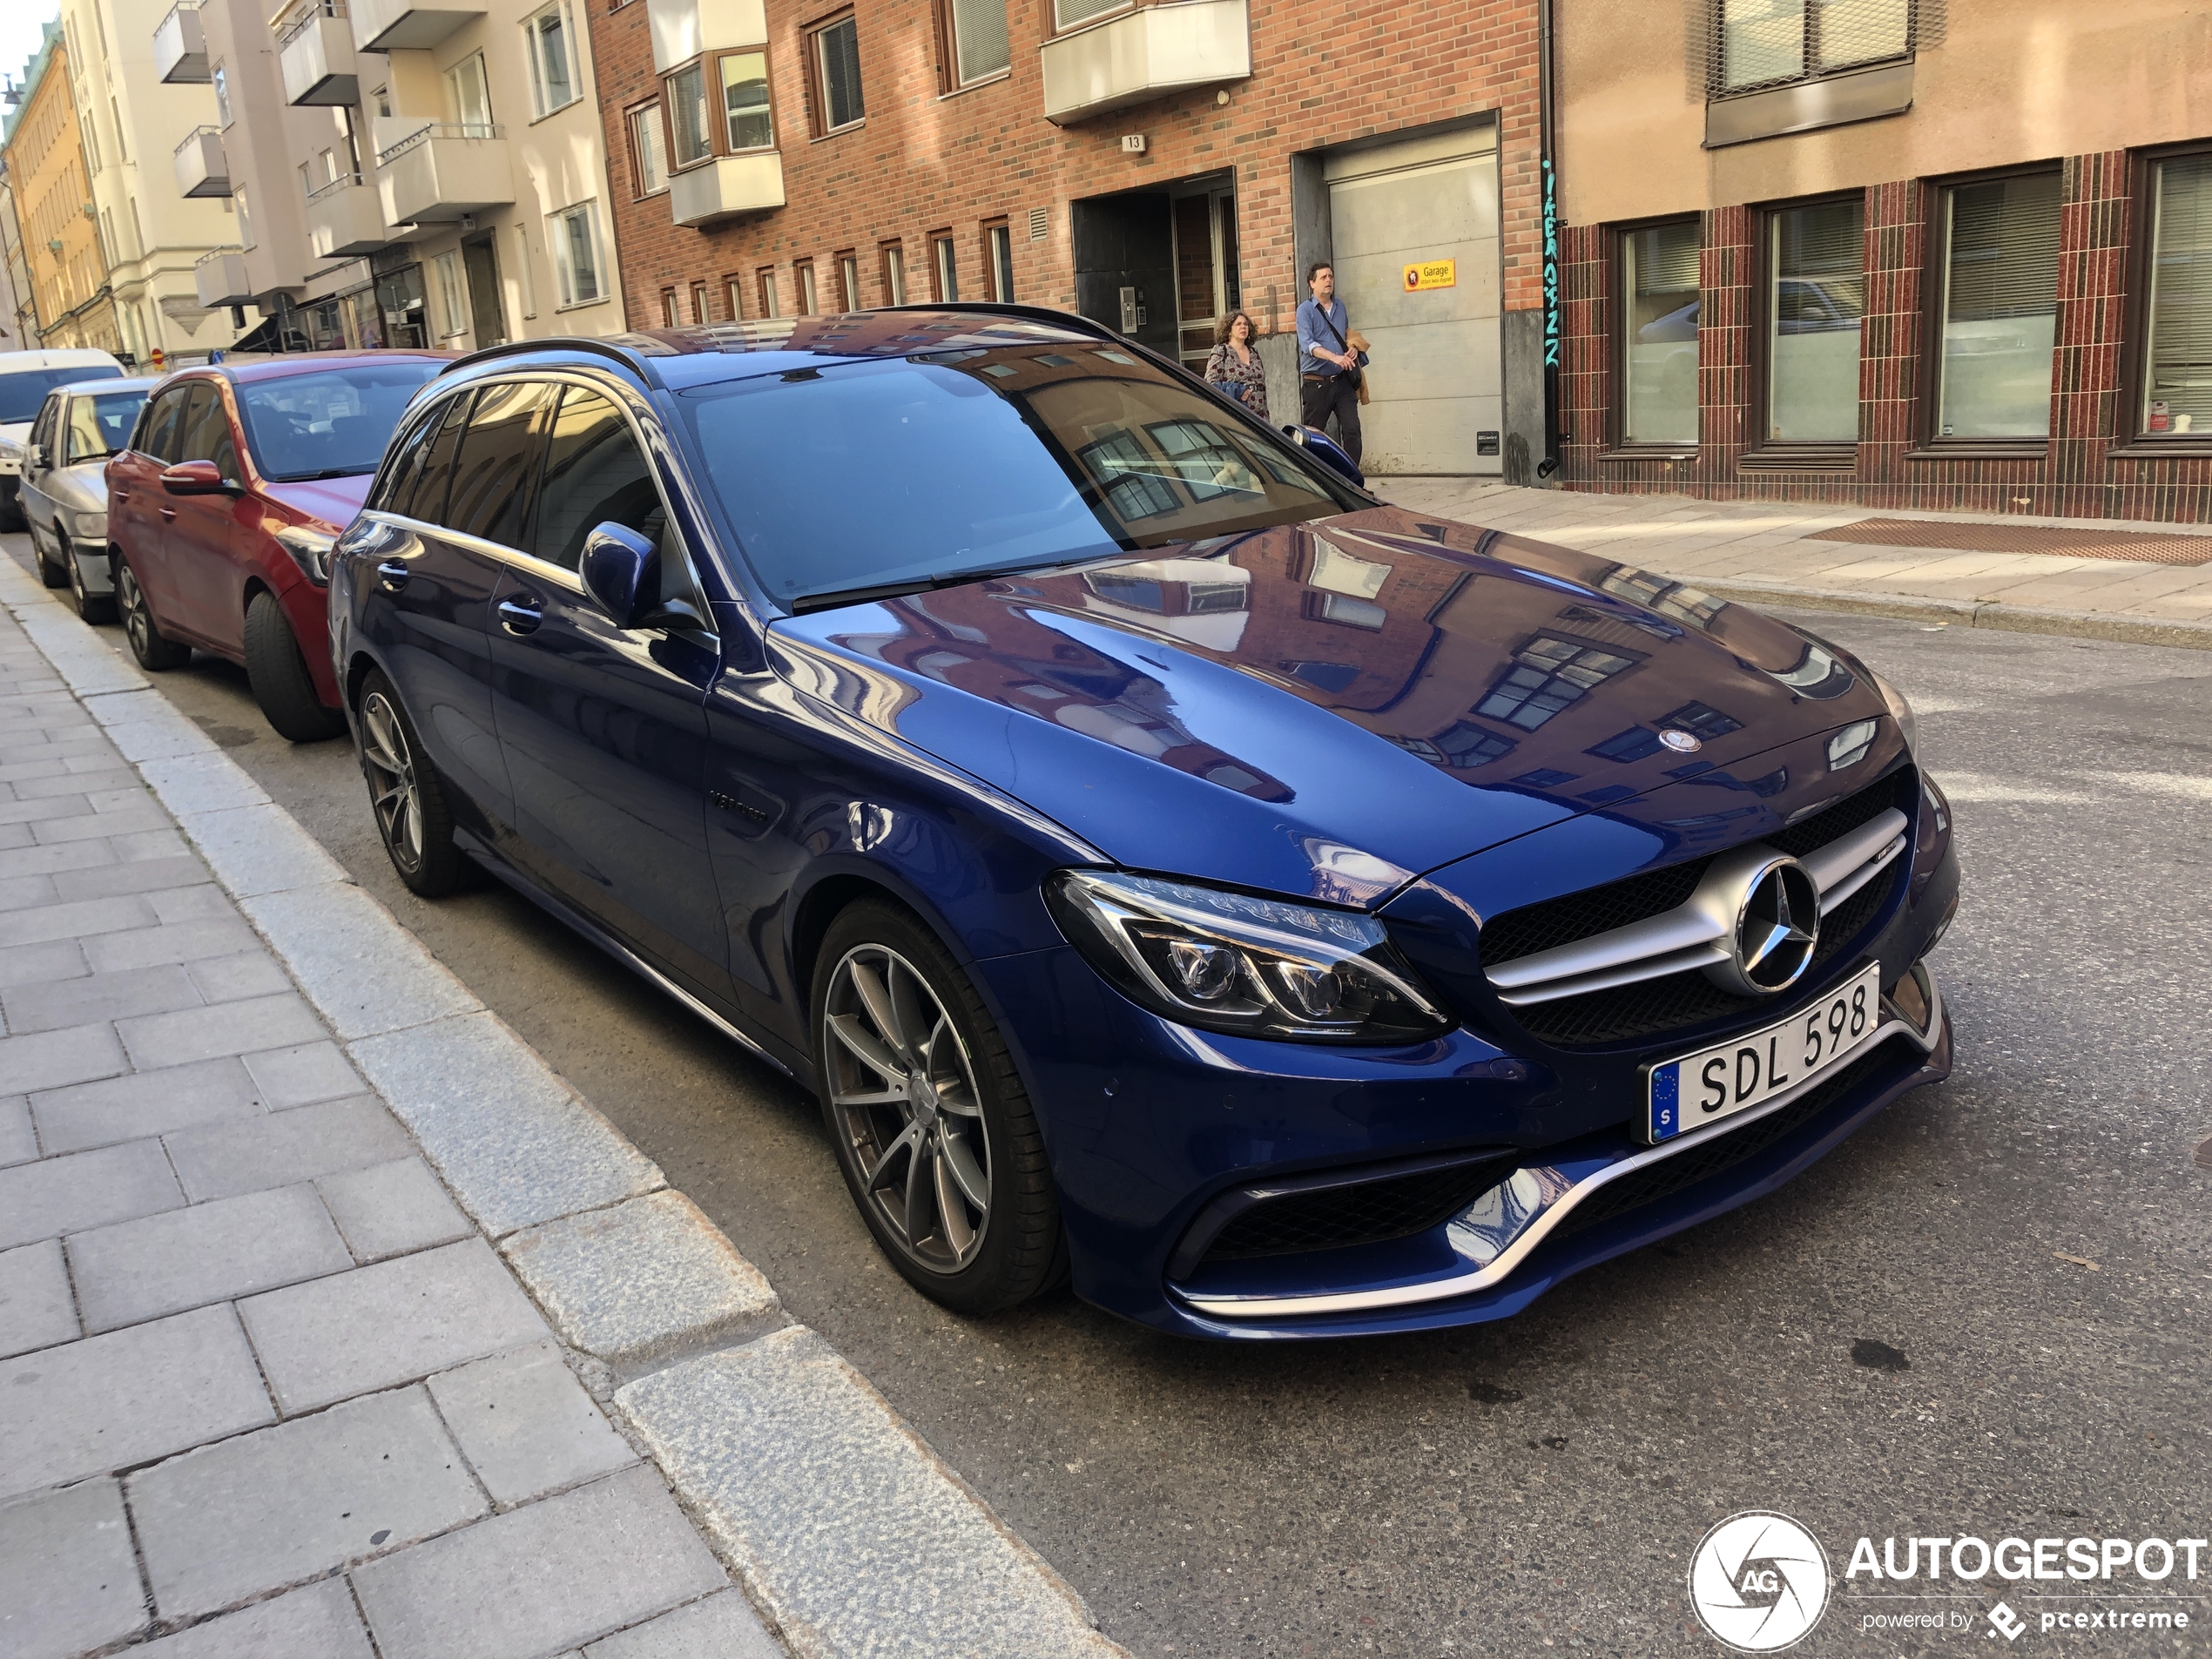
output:
M 1761 841 L 1792 858 L 1803 858 L 1838 836 L 1847 836 L 1860 825 L 1871 823 L 1893 805 L 1911 812 L 1913 779 L 1911 768 L 1893 772 L 1858 794 L 1838 801 L 1827 812 L 1761 836 Z M 1604 887 L 1506 911 L 1482 929 L 1482 962 L 1498 967 L 1520 956 L 1573 945 L 1593 933 L 1606 933 L 1628 922 L 1641 922 L 1648 916 L 1661 916 L 1697 889 L 1710 863 L 1710 856 L 1692 858 L 1681 865 L 1648 869 L 1641 876 L 1628 876 Z M 1820 945 L 1814 949 L 1812 967 L 1805 969 L 1801 989 L 1818 984 L 1825 969 L 1860 942 L 1909 865 L 1911 858 L 1900 858 L 1889 872 L 1869 880 L 1829 916 L 1820 918 Z M 1513 1018 L 1520 1020 L 1531 1037 L 1548 1042 L 1553 1048 L 1593 1048 L 1657 1037 L 1668 1031 L 1743 1020 L 1772 1006 L 1776 1006 L 1772 998 L 1734 995 L 1692 969 L 1688 973 L 1668 973 L 1659 980 L 1617 984 L 1610 991 L 1535 1002 L 1513 1009 Z

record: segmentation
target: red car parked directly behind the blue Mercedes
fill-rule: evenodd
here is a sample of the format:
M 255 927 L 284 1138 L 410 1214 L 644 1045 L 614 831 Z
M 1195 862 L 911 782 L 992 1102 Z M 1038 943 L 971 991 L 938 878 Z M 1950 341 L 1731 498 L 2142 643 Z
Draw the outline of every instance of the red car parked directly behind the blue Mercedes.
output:
M 108 560 L 131 653 L 179 668 L 192 646 L 246 664 L 294 743 L 338 737 L 330 546 L 392 429 L 445 352 L 327 352 L 184 369 L 108 462 Z

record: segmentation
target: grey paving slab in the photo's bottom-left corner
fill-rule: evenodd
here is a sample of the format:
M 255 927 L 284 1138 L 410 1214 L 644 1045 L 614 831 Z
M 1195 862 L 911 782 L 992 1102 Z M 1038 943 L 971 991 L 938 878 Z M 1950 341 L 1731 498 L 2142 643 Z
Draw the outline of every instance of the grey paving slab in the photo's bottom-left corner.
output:
M 113 1480 L 0 1504 L 0 1652 L 64 1659 L 144 1621 L 146 1590 Z

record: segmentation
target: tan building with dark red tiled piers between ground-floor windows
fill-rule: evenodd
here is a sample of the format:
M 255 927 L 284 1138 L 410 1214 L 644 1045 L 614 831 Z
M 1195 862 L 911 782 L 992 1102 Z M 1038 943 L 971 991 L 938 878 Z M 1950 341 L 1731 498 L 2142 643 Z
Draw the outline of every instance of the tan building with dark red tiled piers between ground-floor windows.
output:
M 1562 482 L 2212 518 L 2212 11 L 1559 7 Z

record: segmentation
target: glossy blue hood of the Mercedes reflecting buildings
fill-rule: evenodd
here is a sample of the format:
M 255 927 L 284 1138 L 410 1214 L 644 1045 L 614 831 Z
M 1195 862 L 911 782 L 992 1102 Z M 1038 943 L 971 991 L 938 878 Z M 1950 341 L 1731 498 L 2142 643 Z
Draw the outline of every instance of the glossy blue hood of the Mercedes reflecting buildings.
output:
M 1358 905 L 1564 818 L 1632 818 L 1672 783 L 1712 785 L 1717 810 L 1772 796 L 1772 750 L 1885 712 L 1781 622 L 1394 507 L 770 639 L 801 690 L 1124 867 Z

